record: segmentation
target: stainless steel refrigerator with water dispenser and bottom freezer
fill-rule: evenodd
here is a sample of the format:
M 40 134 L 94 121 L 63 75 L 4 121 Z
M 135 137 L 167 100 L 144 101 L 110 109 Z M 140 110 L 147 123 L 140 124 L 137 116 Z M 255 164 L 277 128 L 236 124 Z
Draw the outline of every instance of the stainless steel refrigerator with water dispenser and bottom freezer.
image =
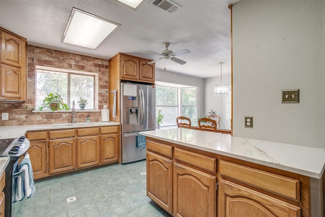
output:
M 155 86 L 121 83 L 121 163 L 146 159 L 146 148 L 138 148 L 140 131 L 155 129 Z

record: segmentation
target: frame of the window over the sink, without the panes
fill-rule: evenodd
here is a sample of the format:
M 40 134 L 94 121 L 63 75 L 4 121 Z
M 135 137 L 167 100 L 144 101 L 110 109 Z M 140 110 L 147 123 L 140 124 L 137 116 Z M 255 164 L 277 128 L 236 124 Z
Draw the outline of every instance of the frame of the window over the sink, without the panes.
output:
M 36 66 L 35 69 L 35 111 L 38 112 L 48 112 L 48 110 L 43 109 L 42 111 L 38 110 L 37 108 L 37 71 L 38 70 L 44 70 L 44 71 L 52 71 L 52 72 L 59 72 L 59 73 L 68 73 L 68 74 L 74 74 L 74 75 L 84 75 L 84 76 L 93 76 L 94 77 L 94 102 L 93 102 L 93 109 L 86 109 L 87 111 L 97 111 L 99 110 L 99 74 L 94 72 L 83 72 L 78 70 L 70 70 L 70 69 L 59 69 L 54 67 L 45 67 L 45 66 Z M 68 76 L 68 102 L 67 104 L 70 105 L 70 76 Z M 69 106 L 70 107 L 70 106 Z M 71 109 L 70 109 L 71 110 Z M 49 110 L 50 112 L 53 112 Z M 56 112 L 64 112 L 69 110 L 58 110 Z M 85 111 L 85 110 L 82 110 Z

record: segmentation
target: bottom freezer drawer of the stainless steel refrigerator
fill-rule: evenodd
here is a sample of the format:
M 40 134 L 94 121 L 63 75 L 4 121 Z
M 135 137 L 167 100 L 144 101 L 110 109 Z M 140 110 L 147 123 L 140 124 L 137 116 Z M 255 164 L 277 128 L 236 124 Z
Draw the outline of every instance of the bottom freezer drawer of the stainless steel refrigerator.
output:
M 146 148 L 137 148 L 136 139 L 139 133 L 122 133 L 121 163 L 129 163 L 146 159 Z

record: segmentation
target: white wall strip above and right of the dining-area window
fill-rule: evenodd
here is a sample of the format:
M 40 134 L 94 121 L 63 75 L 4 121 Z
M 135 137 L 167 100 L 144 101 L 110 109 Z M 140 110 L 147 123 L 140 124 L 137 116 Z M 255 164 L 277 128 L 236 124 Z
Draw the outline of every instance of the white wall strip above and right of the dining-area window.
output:
M 204 79 L 173 72 L 155 70 L 155 80 L 198 87 L 198 115 L 204 111 Z

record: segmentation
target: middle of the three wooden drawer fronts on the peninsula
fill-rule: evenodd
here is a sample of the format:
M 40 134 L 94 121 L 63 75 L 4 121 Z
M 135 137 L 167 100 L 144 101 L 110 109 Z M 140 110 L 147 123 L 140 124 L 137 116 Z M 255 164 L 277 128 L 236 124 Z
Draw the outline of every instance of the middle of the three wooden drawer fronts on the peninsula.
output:
M 203 154 L 194 153 L 191 151 L 175 148 L 174 157 L 178 161 L 182 161 L 202 169 L 217 172 L 217 159 L 204 156 Z

